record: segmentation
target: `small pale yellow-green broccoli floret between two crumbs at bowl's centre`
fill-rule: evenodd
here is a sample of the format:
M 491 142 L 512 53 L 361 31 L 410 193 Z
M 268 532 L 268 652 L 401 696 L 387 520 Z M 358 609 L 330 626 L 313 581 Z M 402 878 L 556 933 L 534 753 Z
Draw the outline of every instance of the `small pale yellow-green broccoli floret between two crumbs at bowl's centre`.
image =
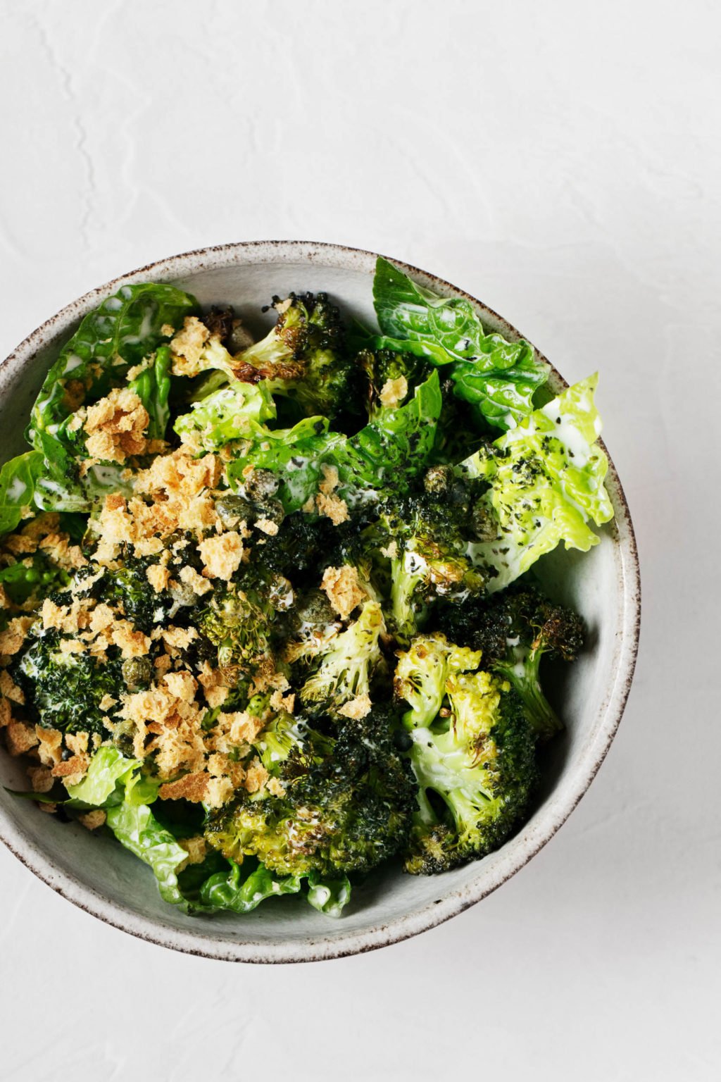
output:
M 301 688 L 304 705 L 336 713 L 351 699 L 368 696 L 384 660 L 378 642 L 384 631 L 379 604 L 365 602 L 358 619 L 323 644 L 320 663 Z

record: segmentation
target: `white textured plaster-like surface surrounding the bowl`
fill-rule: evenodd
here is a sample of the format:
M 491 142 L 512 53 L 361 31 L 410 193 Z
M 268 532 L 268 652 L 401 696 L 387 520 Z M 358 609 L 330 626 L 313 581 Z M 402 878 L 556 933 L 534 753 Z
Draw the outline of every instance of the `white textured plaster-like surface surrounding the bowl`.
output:
M 0 0 L 0 354 L 149 260 L 303 238 L 427 267 L 601 372 L 644 624 L 561 833 L 360 958 L 147 946 L 0 852 L 0 1078 L 721 1077 L 716 0 Z M 716 608 L 716 612 L 713 609 Z

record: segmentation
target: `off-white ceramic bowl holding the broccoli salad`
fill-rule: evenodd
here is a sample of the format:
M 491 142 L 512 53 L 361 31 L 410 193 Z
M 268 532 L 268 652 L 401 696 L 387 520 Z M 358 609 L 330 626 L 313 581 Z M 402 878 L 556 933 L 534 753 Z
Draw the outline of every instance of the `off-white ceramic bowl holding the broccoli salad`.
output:
M 290 290 L 326 290 L 347 313 L 370 320 L 375 259 L 372 252 L 303 241 L 225 245 L 152 263 L 86 293 L 34 331 L 0 366 L 0 461 L 23 450 L 23 428 L 42 378 L 79 319 L 121 285 L 173 282 L 203 305 L 233 304 L 258 330 L 261 306 Z M 444 296 L 467 295 L 433 275 L 399 265 Z M 469 300 L 486 327 L 511 340 L 520 337 L 505 319 Z M 564 386 L 556 371 L 551 386 Z M 573 812 L 606 754 L 626 703 L 639 633 L 639 569 L 613 463 L 606 484 L 616 517 L 601 530 L 601 543 L 587 554 L 557 551 L 538 566 L 549 592 L 583 613 L 589 649 L 563 671 L 562 686 L 555 688 L 568 729 L 552 751 L 536 809 L 497 853 L 441 876 L 404 875 L 397 868 L 378 872 L 355 890 L 347 915 L 338 921 L 292 897 L 273 899 L 245 916 L 209 919 L 186 916 L 163 902 L 150 870 L 112 840 L 58 822 L 4 788 L 0 837 L 44 883 L 108 924 L 176 950 L 232 961 L 297 962 L 371 950 L 424 932 L 480 901 L 535 856 Z M 22 766 L 4 751 L 0 781 L 25 787 Z

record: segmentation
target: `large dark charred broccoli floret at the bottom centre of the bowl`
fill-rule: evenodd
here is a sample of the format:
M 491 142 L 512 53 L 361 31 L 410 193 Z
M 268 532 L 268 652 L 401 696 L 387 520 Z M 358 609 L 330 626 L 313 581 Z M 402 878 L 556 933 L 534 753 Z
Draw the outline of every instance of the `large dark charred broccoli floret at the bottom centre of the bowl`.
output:
M 205 836 L 226 857 L 306 875 L 368 871 L 406 846 L 414 789 L 388 711 L 348 720 L 334 737 L 286 723 L 261 742 L 279 795 L 243 794 L 211 818 Z

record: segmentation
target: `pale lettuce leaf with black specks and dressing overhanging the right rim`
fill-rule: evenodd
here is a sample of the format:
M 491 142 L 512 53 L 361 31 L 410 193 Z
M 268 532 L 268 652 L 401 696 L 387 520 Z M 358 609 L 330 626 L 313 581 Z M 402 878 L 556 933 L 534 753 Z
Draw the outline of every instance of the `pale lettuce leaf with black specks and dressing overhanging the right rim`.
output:
M 598 544 L 588 525 L 613 518 L 603 479 L 607 459 L 597 439 L 601 420 L 593 404 L 598 378 L 575 383 L 460 470 L 484 477 L 491 540 L 473 542 L 469 555 L 489 570 L 489 592 L 502 590 L 561 541 L 587 552 Z

